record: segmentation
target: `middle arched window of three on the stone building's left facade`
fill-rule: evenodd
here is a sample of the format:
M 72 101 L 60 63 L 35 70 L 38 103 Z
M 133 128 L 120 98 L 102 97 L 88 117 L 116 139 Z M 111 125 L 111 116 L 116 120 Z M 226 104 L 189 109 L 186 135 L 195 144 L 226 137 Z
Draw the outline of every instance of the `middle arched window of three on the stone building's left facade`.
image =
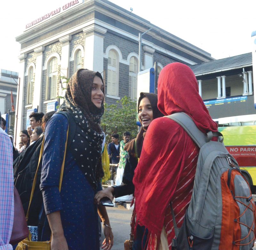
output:
M 47 100 L 56 98 L 57 73 L 57 58 L 53 57 L 52 60 L 50 60 L 50 62 L 48 63 L 47 68 Z

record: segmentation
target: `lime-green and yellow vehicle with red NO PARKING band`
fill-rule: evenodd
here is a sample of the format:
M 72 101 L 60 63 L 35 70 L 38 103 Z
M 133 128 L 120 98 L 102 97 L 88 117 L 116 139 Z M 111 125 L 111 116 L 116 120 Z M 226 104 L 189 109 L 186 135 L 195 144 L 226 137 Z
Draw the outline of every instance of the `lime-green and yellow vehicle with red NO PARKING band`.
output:
M 256 191 L 256 125 L 225 127 L 221 133 L 228 152 L 236 159 L 254 193 Z

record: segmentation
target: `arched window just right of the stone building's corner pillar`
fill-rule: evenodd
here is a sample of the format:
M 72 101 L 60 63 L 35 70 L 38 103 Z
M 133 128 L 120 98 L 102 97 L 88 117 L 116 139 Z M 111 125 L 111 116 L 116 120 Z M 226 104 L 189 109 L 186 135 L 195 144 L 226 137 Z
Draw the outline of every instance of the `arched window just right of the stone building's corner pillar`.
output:
M 108 53 L 107 95 L 118 96 L 118 57 L 114 50 Z

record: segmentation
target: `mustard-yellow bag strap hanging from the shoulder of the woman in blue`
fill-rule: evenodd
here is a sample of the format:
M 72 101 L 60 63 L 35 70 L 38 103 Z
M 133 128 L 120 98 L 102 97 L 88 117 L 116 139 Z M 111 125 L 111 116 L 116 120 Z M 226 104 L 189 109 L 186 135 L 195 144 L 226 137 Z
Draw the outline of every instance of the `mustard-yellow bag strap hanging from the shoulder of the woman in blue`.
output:
M 68 126 L 68 129 L 69 129 L 69 126 Z M 59 191 L 61 189 L 61 183 L 62 183 L 62 178 L 63 178 L 64 164 L 65 164 L 66 151 L 67 151 L 67 143 L 68 143 L 68 131 L 67 131 L 67 139 L 66 139 L 66 143 L 65 143 L 64 157 L 63 157 L 63 161 L 62 161 L 62 165 L 61 165 L 61 170 L 60 170 Z M 34 194 L 35 187 L 36 187 L 37 173 L 38 173 L 40 161 L 41 161 L 42 156 L 43 156 L 43 152 L 44 152 L 44 138 L 43 138 L 43 141 L 42 141 L 42 146 L 41 146 L 41 149 L 40 149 L 40 155 L 39 155 L 38 165 L 37 165 L 37 169 L 36 169 L 36 174 L 35 174 L 33 185 L 32 185 L 32 190 L 31 190 L 31 195 L 30 195 L 30 200 L 29 200 L 29 205 L 28 205 L 28 212 L 27 212 L 27 215 L 26 215 L 26 220 L 27 221 L 28 221 L 28 214 L 29 214 L 29 209 L 30 209 L 31 201 L 32 201 L 33 194 Z

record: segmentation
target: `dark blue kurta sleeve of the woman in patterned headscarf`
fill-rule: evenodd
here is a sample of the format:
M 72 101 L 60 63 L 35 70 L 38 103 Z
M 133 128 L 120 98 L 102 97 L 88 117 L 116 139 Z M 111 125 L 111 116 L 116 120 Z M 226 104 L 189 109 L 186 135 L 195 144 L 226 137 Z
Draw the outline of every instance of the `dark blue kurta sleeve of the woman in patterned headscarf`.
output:
M 62 209 L 59 182 L 67 130 L 68 120 L 61 114 L 54 114 L 45 129 L 40 189 L 46 215 Z

